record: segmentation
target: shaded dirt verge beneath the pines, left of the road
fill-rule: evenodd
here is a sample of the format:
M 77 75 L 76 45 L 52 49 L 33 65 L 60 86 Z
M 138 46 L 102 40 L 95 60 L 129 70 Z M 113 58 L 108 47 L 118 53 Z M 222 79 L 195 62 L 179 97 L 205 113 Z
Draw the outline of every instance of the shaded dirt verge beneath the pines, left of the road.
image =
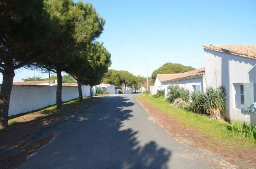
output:
M 12 169 L 19 166 L 28 155 L 52 140 L 54 133 L 38 138 L 44 129 L 78 113 L 97 99 L 84 99 L 82 103 L 65 104 L 59 110 L 42 110 L 11 119 L 12 125 L 0 129 L 0 168 Z

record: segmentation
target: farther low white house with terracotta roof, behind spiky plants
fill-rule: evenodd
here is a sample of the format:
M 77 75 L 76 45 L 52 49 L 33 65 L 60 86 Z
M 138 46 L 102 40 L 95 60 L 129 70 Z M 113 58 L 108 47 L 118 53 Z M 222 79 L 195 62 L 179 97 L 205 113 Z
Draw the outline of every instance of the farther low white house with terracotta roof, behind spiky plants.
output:
M 155 94 L 158 89 L 164 89 L 166 96 L 167 87 L 177 84 L 189 91 L 204 91 L 206 88 L 204 67 L 185 73 L 157 74 L 155 85 L 150 86 L 150 92 Z

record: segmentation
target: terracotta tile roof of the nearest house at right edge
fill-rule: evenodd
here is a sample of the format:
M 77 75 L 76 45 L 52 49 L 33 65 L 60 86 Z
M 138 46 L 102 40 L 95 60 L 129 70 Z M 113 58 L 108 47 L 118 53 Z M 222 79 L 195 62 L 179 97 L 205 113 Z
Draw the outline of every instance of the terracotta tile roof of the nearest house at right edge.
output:
M 204 48 L 256 59 L 256 45 L 204 45 Z

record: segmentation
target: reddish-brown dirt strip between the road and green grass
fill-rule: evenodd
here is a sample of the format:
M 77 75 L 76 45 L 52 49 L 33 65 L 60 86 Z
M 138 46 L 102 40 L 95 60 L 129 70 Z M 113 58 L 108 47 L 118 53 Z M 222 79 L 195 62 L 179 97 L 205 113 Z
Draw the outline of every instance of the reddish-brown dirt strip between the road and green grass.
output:
M 137 98 L 138 99 L 138 98 Z M 139 99 L 138 99 L 139 100 Z M 206 149 L 213 153 L 220 154 L 232 164 L 231 168 L 256 168 L 256 149 L 236 149 L 234 143 L 230 143 L 229 147 L 219 142 L 217 146 L 212 146 L 213 142 L 207 136 L 199 134 L 196 130 L 184 127 L 182 123 L 163 111 L 159 111 L 156 107 L 143 100 L 139 100 L 149 114 L 148 120 L 156 125 L 164 128 L 164 130 L 174 137 L 178 142 L 187 144 L 193 148 Z M 221 168 L 230 168 L 225 165 Z

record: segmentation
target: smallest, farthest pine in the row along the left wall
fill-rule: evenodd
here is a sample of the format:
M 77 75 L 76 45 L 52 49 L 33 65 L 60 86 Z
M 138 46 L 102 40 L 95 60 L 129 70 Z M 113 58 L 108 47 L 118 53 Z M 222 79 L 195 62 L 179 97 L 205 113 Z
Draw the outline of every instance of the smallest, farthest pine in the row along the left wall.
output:
M 103 43 L 95 42 L 87 46 L 87 63 L 85 76 L 82 84 L 89 85 L 92 98 L 92 87 L 100 84 L 104 73 L 108 71 L 111 65 L 111 54 L 104 48 Z

